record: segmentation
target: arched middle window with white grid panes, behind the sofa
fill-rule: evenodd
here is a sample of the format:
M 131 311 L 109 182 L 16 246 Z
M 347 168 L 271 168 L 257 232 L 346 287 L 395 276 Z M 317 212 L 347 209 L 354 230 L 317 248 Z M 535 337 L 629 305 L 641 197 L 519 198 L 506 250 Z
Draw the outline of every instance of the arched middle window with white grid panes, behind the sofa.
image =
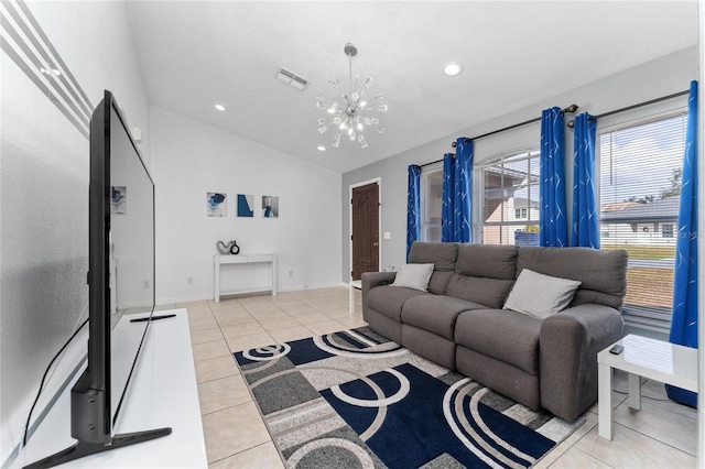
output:
M 539 246 L 539 151 L 479 168 L 482 243 Z

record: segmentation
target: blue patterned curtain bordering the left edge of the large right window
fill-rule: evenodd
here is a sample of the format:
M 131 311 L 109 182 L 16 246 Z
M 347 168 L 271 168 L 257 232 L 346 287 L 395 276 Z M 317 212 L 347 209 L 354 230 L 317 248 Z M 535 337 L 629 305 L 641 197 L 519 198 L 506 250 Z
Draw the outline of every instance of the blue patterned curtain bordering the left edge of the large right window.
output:
M 573 145 L 573 233 L 571 246 L 599 249 L 599 211 L 595 197 L 595 135 L 597 119 L 575 118 Z

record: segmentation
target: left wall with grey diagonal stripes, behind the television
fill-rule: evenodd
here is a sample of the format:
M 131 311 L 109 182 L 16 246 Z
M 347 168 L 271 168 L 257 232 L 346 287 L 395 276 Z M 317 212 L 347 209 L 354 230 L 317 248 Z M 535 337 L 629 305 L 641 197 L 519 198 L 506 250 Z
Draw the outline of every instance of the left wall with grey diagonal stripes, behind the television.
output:
M 66 64 L 64 77 L 70 72 L 93 106 L 104 89 L 112 90 L 130 122 L 149 134 L 149 107 L 126 6 L 30 1 L 26 7 Z M 17 23 L 10 10 L 20 11 L 21 21 L 31 24 L 17 3 L 3 1 L 1 9 L 12 26 Z M 18 33 L 13 36 L 10 31 L 3 24 L 2 40 L 23 57 Z M 22 41 L 30 42 L 25 36 Z M 52 100 L 58 98 L 48 92 L 46 78 L 35 67 L 18 65 L 6 51 L 0 62 L 0 463 L 4 463 L 21 440 L 45 367 L 88 302 L 89 148 L 87 138 L 54 106 Z M 20 62 L 31 64 L 26 57 Z M 44 84 L 42 88 L 30 77 Z

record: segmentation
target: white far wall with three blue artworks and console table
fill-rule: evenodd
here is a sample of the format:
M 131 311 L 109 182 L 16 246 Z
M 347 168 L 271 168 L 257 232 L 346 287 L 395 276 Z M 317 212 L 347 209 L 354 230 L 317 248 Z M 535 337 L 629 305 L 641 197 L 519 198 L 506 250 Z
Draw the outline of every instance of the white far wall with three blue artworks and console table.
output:
M 217 241 L 276 253 L 282 291 L 340 284 L 340 174 L 161 108 L 151 129 L 158 303 L 213 298 Z M 227 194 L 227 217 L 206 216 L 208 192 Z M 236 217 L 237 194 L 254 196 L 254 217 Z M 262 217 L 264 195 L 279 197 L 279 218 Z M 223 290 L 265 282 L 226 272 Z

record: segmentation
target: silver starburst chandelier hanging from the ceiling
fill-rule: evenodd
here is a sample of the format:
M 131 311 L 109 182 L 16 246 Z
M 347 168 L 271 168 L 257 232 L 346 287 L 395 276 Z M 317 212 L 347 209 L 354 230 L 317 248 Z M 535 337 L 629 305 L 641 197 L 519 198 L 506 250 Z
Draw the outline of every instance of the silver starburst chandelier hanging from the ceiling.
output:
M 357 75 L 352 81 L 352 57 L 357 55 L 357 47 L 347 43 L 343 51 L 348 56 L 349 66 L 347 94 L 340 87 L 340 80 L 334 78 L 328 84 L 340 94 L 339 98 L 328 99 L 322 92 L 316 95 L 316 108 L 327 113 L 318 119 L 318 132 L 325 133 L 328 126 L 335 126 L 337 132 L 332 142 L 334 148 L 338 148 L 340 137 L 345 134 L 351 142 L 357 140 L 360 146 L 366 149 L 368 144 L 364 135 L 365 127 L 373 126 L 375 130 L 382 133 L 384 127 L 376 116 L 377 112 L 386 112 L 387 105 L 380 102 L 384 98 L 381 92 L 369 100 L 366 99 L 366 94 L 372 86 L 372 78 L 368 77 L 365 83 L 360 83 L 360 76 Z

